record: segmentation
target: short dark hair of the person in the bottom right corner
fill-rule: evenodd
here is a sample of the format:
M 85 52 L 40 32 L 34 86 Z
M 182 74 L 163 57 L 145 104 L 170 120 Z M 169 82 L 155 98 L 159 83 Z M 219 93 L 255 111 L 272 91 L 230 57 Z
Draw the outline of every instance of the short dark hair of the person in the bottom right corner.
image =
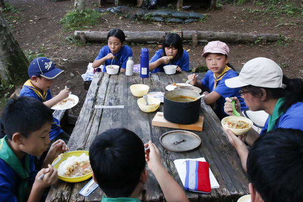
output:
M 277 128 L 262 135 L 246 166 L 248 181 L 265 202 L 302 201 L 303 131 Z

